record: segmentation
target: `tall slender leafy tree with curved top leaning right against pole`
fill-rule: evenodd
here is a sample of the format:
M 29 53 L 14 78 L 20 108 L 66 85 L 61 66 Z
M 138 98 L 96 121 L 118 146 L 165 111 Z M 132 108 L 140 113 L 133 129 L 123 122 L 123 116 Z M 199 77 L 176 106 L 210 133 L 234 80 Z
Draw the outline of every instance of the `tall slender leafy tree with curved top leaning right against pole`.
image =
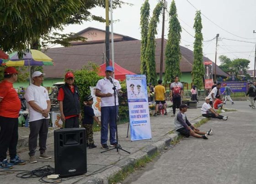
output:
M 156 84 L 157 76 L 155 72 L 155 34 L 156 27 L 159 22 L 159 15 L 162 10 L 162 2 L 159 2 L 153 11 L 153 16 L 149 22 L 149 33 L 147 39 L 147 48 L 145 52 L 145 60 L 147 65 L 147 81 Z

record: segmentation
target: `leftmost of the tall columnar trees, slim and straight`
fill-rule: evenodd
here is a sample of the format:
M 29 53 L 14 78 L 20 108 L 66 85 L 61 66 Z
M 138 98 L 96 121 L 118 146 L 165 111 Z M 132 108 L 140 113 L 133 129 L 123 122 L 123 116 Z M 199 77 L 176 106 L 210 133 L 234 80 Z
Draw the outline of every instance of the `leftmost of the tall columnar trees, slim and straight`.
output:
M 144 4 L 140 8 L 140 34 L 141 34 L 141 46 L 140 46 L 140 73 L 147 76 L 147 65 L 145 59 L 145 53 L 147 48 L 147 39 L 149 32 L 149 0 L 145 0 Z

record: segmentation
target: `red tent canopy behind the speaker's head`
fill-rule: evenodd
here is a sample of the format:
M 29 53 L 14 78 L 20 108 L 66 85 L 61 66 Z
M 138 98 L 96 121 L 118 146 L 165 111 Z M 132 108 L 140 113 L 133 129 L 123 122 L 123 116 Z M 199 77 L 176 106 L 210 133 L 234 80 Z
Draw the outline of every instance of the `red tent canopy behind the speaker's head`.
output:
M 110 60 L 110 66 L 112 66 L 112 61 Z M 102 64 L 100 66 L 100 76 L 105 76 L 105 70 L 106 70 L 106 63 Z M 115 63 L 115 79 L 123 81 L 125 80 L 125 75 L 126 74 L 136 74 L 133 72 L 130 72 L 128 70 L 126 70 L 125 68 L 123 68 L 122 66 L 117 65 L 117 63 Z

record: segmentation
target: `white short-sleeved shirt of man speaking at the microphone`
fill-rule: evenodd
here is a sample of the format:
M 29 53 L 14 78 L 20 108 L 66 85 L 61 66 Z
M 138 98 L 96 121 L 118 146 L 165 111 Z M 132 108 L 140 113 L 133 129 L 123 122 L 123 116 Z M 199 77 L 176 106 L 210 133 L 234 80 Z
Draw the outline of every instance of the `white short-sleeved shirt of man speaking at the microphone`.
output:
M 117 87 L 117 90 L 121 89 L 119 81 L 114 79 L 114 85 Z M 112 97 L 101 97 L 101 107 L 115 106 L 114 90 L 113 84 L 106 77 L 97 82 L 96 89 L 100 90 L 101 93 L 111 93 Z M 116 104 L 118 105 L 118 96 L 116 92 Z

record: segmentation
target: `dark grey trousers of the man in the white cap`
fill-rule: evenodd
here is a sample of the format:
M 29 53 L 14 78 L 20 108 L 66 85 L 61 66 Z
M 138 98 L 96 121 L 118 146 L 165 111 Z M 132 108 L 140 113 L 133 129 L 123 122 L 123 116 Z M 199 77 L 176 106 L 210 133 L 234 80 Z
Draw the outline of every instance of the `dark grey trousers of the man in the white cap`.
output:
M 37 137 L 39 135 L 39 151 L 43 154 L 46 150 L 46 140 L 48 135 L 49 119 L 39 119 L 36 121 L 29 122 L 29 138 L 28 148 L 29 156 L 33 156 L 37 149 Z

